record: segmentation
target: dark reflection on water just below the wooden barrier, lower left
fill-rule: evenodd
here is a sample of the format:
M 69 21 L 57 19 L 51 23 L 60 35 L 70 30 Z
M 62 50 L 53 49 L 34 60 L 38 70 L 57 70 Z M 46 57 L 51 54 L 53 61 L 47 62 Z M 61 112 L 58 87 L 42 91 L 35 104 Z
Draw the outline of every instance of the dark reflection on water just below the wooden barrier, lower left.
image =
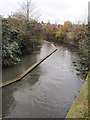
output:
M 17 97 L 19 101 L 21 102 L 22 100 L 26 98 L 22 98 L 22 95 L 20 96 L 21 93 L 26 94 L 27 92 L 24 91 L 24 88 L 29 87 L 29 90 L 32 91 L 32 87 L 36 84 L 36 82 L 39 80 L 39 74 L 41 73 L 40 70 L 38 69 L 37 74 L 32 75 L 29 74 L 25 78 L 23 78 L 21 81 L 18 83 L 14 83 L 14 85 L 9 85 L 5 88 L 2 89 L 2 113 L 3 117 L 7 116 L 10 114 L 11 111 L 14 110 L 15 106 L 17 105 L 17 99 L 15 93 L 19 91 L 19 94 L 17 94 Z M 23 108 L 22 108 L 23 109 Z

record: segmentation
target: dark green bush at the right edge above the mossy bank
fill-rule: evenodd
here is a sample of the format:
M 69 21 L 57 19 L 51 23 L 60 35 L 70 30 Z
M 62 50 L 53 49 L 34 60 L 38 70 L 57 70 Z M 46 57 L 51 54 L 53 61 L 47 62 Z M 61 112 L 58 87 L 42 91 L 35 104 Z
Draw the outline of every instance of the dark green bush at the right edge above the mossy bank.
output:
M 83 75 L 86 77 L 89 71 L 89 46 L 90 46 L 90 33 L 88 29 L 85 31 L 85 39 L 80 43 L 79 45 L 79 51 L 80 51 L 80 71 L 83 73 Z

